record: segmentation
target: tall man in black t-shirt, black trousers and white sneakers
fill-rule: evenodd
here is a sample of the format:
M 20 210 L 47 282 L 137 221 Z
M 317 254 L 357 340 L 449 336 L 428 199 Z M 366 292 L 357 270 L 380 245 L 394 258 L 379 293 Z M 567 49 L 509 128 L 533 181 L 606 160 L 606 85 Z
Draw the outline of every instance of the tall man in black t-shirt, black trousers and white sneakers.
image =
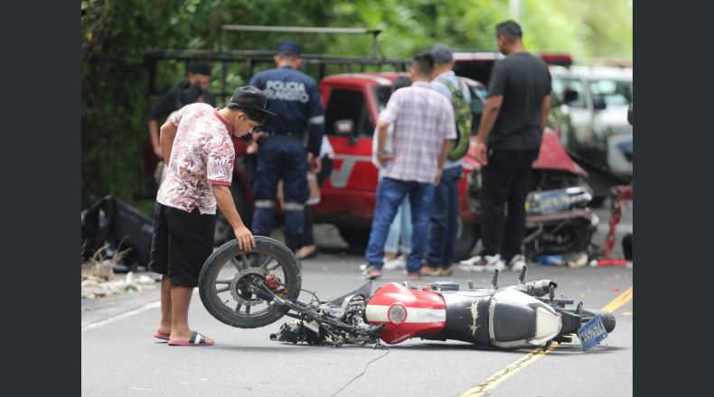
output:
M 548 121 L 550 72 L 543 60 L 526 51 L 521 36 L 521 26 L 513 21 L 496 26 L 498 47 L 506 57 L 493 65 L 476 137 L 476 160 L 483 164 L 484 249 L 460 263 L 465 271 L 504 270 L 506 263 L 520 271 L 525 265 L 525 200 Z

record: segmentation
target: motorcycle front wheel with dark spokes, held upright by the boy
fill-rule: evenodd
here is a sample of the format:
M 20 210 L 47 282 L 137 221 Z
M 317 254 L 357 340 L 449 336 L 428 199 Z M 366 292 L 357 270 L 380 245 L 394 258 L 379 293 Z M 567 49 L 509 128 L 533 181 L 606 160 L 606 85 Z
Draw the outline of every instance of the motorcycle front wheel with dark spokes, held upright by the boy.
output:
M 269 237 L 255 237 L 256 247 L 241 250 L 236 240 L 221 245 L 203 264 L 198 280 L 203 306 L 216 319 L 238 328 L 259 328 L 281 319 L 288 308 L 261 300 L 249 291 L 259 279 L 274 273 L 285 284 L 284 299 L 297 300 L 302 274 L 300 263 L 287 246 Z

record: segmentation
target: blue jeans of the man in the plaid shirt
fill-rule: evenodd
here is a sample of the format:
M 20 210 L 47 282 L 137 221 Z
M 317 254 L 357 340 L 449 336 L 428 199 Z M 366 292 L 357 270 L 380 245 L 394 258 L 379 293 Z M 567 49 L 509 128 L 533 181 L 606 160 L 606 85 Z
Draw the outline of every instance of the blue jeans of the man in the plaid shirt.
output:
M 371 221 L 370 242 L 367 245 L 365 260 L 378 269 L 384 265 L 384 243 L 390 230 L 391 222 L 397 215 L 399 204 L 409 195 L 411 205 L 411 253 L 407 258 L 407 272 L 418 272 L 427 248 L 429 212 L 434 196 L 431 183 L 393 180 L 382 178 L 377 187 L 377 204 Z

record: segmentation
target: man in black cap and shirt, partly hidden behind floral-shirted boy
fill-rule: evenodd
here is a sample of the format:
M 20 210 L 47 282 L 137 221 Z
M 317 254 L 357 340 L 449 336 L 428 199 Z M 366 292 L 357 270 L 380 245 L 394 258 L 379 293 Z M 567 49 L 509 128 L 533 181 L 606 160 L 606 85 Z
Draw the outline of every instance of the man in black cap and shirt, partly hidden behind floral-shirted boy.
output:
M 176 87 L 171 88 L 161 101 L 151 109 L 149 115 L 149 137 L 151 146 L 156 156 L 162 160 L 161 145 L 159 144 L 159 125 L 164 123 L 166 117 L 183 106 L 193 102 L 203 102 L 213 107 L 216 106 L 216 99 L 208 92 L 208 85 L 211 82 L 211 65 L 207 62 L 196 62 L 188 71 L 186 78 Z M 185 93 L 193 93 L 194 89 L 199 89 L 201 95 L 198 98 L 186 99 Z

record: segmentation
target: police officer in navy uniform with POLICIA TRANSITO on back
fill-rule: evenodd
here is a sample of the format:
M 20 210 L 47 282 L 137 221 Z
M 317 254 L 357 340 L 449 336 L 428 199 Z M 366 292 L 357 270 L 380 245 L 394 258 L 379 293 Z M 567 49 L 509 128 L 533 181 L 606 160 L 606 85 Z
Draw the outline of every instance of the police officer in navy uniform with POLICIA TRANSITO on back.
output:
M 279 117 L 268 118 L 258 141 L 258 169 L 253 181 L 255 235 L 270 235 L 276 201 L 277 180 L 283 180 L 285 236 L 287 246 L 296 251 L 303 234 L 308 157 L 310 171 L 322 168 L 320 144 L 324 131 L 320 91 L 314 78 L 300 72 L 300 47 L 283 42 L 274 58 L 276 69 L 259 72 L 249 86 L 260 88 L 268 97 L 268 110 Z M 303 136 L 307 131 L 307 152 Z

